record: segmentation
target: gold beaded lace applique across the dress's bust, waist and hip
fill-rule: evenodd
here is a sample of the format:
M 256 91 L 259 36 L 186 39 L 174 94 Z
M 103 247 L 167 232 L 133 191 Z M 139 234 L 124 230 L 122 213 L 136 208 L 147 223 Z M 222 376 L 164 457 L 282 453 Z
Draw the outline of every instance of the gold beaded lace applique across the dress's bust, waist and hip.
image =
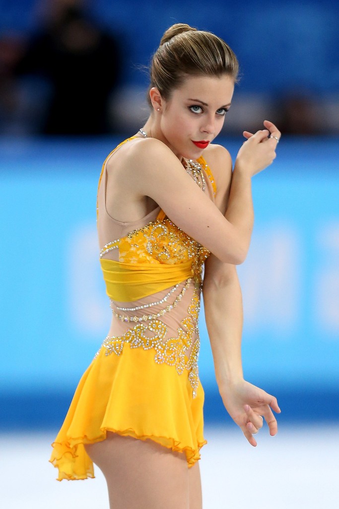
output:
M 106 350 L 106 356 L 112 353 L 121 355 L 125 343 L 129 344 L 130 348 L 155 350 L 154 360 L 158 364 L 175 366 L 179 375 L 184 370 L 189 372 L 188 378 L 193 389 L 193 397 L 195 397 L 199 384 L 199 297 L 203 262 L 209 256 L 209 251 L 182 232 L 168 218 L 149 222 L 145 227 L 130 232 L 126 237 L 109 242 L 101 250 L 100 256 L 104 256 L 112 249 L 119 249 L 119 262 L 122 263 L 176 264 L 192 260 L 192 278 L 195 282 L 195 290 L 188 315 L 181 321 L 182 328 L 178 328 L 177 337 L 165 339 L 168 329 L 161 321 L 161 317 L 181 301 L 184 292 L 191 285 L 192 278 L 186 281 L 172 303 L 167 301 L 179 285 L 175 285 L 159 302 L 151 302 L 137 307 L 121 307 L 111 301 L 113 315 L 122 322 L 130 323 L 131 326 L 135 323 L 135 325 L 120 336 L 107 336 L 102 347 Z M 167 305 L 160 312 L 151 312 L 153 306 L 162 303 Z M 140 316 L 126 314 L 136 311 L 141 311 L 143 314 Z M 196 340 L 193 342 L 195 335 Z M 191 349 L 191 353 L 187 356 L 186 353 L 189 349 Z

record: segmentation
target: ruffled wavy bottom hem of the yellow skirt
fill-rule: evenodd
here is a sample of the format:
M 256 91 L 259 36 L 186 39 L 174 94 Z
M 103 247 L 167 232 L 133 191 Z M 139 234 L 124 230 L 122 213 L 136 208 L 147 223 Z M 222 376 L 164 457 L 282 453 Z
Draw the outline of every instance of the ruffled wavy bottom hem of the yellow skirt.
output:
M 84 444 L 93 444 L 102 442 L 106 439 L 106 432 L 117 433 L 121 436 L 130 436 L 138 440 L 152 440 L 163 447 L 171 449 L 179 453 L 186 454 L 188 467 L 192 467 L 198 460 L 200 460 L 200 449 L 207 443 L 206 440 L 198 442 L 197 448 L 194 449 L 188 445 L 183 445 L 179 440 L 168 437 L 161 437 L 155 435 L 142 435 L 136 433 L 132 429 L 116 430 L 113 428 L 105 428 L 102 430 L 102 435 L 97 438 L 88 439 L 87 437 L 70 438 L 63 442 L 53 442 L 53 452 L 50 458 L 50 463 L 55 468 L 58 468 L 59 475 L 56 480 L 83 480 L 95 478 L 93 463 L 86 453 Z

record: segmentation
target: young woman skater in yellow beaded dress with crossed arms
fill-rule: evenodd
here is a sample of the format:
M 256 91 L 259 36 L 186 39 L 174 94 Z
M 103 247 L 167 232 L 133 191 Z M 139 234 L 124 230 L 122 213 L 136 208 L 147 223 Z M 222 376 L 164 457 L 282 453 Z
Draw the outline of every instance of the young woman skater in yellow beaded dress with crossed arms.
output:
M 237 71 L 217 36 L 170 27 L 151 64 L 151 114 L 103 165 L 98 233 L 112 324 L 51 462 L 59 480 L 93 477 L 96 463 L 111 508 L 201 508 L 201 288 L 227 411 L 253 446 L 263 418 L 271 435 L 277 431 L 276 399 L 242 375 L 235 265 L 250 245 L 251 178 L 273 161 L 280 132 L 268 121 L 245 131 L 232 173 L 229 153 L 212 142 Z

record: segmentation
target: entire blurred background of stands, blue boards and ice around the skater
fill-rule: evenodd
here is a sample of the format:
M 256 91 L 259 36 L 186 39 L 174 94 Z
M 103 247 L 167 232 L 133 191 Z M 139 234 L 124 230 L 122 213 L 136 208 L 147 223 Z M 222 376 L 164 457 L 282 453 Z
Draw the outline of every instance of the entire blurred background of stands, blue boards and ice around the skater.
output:
M 249 476 L 276 472 L 275 507 L 327 507 L 337 499 L 330 481 L 339 453 L 338 4 L 0 0 L 4 507 L 23 500 L 25 507 L 45 507 L 47 493 L 55 507 L 74 506 L 72 496 L 83 497 L 82 507 L 108 506 L 98 502 L 100 474 L 97 484 L 87 482 L 93 483 L 88 492 L 82 483 L 65 491 L 51 481 L 46 462 L 75 386 L 109 327 L 96 237 L 101 165 L 146 120 L 147 66 L 175 22 L 214 32 L 238 56 L 241 79 L 218 138 L 233 160 L 244 129 L 261 129 L 268 118 L 283 132 L 274 164 L 254 179 L 253 242 L 238 270 L 245 377 L 278 398 L 281 434 L 273 446 L 263 438 L 256 457 L 243 445 L 222 407 L 201 320 L 211 437 L 203 453 L 205 505 L 243 507 L 232 490 L 232 504 L 224 505 L 210 488 L 225 466 L 221 456 L 232 473 L 244 463 Z M 18 468 L 30 479 L 22 491 L 13 484 Z M 235 479 L 231 485 L 235 493 Z M 269 507 L 260 498 L 252 506 Z

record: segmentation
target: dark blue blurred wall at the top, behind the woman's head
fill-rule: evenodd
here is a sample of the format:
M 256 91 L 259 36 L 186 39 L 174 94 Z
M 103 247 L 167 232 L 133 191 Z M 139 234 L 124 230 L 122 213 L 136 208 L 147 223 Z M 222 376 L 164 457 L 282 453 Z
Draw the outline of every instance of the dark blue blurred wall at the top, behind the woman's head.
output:
M 84 0 L 91 17 L 120 41 L 125 83 L 148 85 L 147 67 L 164 31 L 183 22 L 225 39 L 240 62 L 241 94 L 311 94 L 315 100 L 339 86 L 339 6 L 332 0 L 283 3 L 210 0 L 157 2 Z M 46 0 L 0 0 L 0 34 L 34 34 L 48 11 Z M 103 69 L 105 73 L 114 68 Z

